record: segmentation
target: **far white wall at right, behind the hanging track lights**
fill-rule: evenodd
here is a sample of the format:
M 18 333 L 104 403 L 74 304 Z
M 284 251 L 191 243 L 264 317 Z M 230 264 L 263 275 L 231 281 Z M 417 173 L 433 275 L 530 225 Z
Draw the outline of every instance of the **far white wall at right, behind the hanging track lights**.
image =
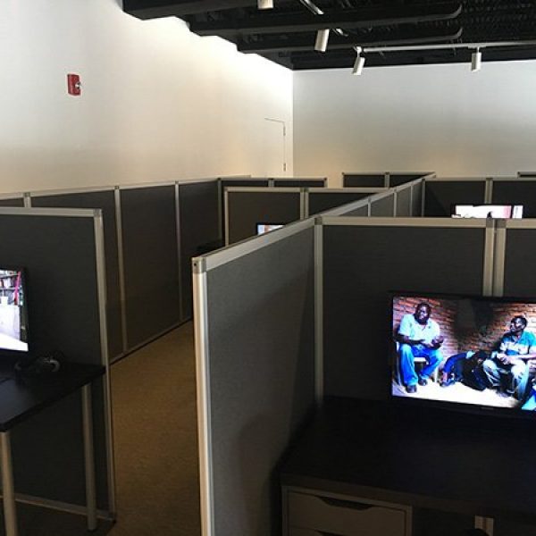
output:
M 485 52 L 484 52 L 485 60 Z M 536 62 L 299 71 L 294 172 L 536 171 Z

